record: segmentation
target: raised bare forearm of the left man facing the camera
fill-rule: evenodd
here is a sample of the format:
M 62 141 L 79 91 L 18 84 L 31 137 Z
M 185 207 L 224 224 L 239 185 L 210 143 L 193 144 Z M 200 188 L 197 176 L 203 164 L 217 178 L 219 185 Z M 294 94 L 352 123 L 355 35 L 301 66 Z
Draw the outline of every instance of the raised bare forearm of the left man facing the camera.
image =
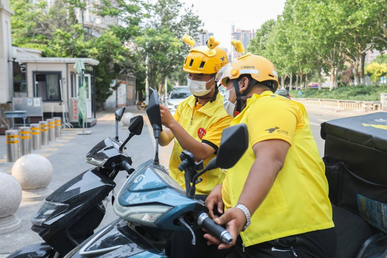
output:
M 205 148 L 202 143 L 195 140 L 187 131 L 176 121 L 170 125 L 169 129 L 173 132 L 176 140 L 179 142 L 180 146 L 184 150 L 189 151 L 194 155 L 196 160 L 204 160 L 205 157 Z

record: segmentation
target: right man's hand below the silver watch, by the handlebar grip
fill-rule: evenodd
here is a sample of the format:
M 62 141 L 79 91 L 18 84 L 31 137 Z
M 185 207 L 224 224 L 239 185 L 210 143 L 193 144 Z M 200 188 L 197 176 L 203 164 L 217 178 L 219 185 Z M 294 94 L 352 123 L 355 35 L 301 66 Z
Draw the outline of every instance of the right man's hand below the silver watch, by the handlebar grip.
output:
M 224 212 L 224 214 L 214 220 L 216 224 L 227 226 L 227 231 L 233 237 L 233 242 L 231 244 L 224 244 L 219 239 L 210 234 L 204 234 L 204 238 L 208 240 L 207 244 L 217 244 L 218 249 L 227 249 L 235 245 L 236 238 L 242 231 L 243 227 L 246 225 L 246 216 L 238 208 L 229 208 Z

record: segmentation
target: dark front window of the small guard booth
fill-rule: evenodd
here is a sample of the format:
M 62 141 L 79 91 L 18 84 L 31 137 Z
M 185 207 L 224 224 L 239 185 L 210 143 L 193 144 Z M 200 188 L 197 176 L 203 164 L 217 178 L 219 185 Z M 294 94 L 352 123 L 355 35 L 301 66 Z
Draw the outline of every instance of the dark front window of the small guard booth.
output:
M 60 72 L 34 72 L 34 96 L 43 101 L 60 101 Z

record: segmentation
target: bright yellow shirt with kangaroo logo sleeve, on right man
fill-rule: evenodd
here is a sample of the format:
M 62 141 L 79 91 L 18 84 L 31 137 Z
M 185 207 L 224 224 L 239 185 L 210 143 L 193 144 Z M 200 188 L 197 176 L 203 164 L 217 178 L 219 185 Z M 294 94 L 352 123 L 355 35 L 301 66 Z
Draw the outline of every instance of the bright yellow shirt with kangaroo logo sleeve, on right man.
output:
M 255 161 L 255 143 L 282 139 L 291 144 L 273 187 L 252 215 L 251 225 L 241 232 L 245 246 L 334 227 L 325 166 L 304 106 L 265 91 L 248 99 L 231 126 L 241 123 L 247 125 L 249 146 L 238 163 L 227 170 L 222 186 L 225 209 L 238 202 Z

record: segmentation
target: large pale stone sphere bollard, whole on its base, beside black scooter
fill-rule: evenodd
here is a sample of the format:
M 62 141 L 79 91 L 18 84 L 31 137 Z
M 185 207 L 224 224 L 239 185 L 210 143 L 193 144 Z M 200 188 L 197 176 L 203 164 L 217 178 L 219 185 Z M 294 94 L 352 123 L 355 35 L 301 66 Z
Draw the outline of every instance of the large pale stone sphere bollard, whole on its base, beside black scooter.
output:
M 22 186 L 23 201 L 41 201 L 52 193 L 47 188 L 52 178 L 52 165 L 41 155 L 22 156 L 16 160 L 11 174 Z

